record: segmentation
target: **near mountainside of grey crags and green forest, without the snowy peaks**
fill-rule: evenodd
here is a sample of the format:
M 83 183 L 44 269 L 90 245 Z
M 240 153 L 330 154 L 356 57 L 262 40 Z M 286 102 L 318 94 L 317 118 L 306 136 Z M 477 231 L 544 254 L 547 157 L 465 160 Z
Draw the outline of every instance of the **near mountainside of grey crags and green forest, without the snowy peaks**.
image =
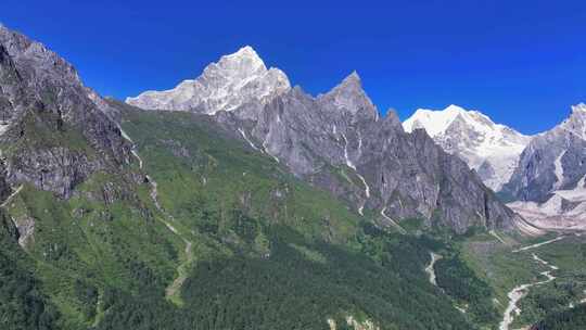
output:
M 357 75 L 237 110 L 258 122 L 149 112 L 1 27 L 0 87 L 2 329 L 496 325 L 494 293 L 446 242 L 514 234 L 517 217 L 424 132 L 379 118 Z M 327 114 L 335 134 L 294 139 Z M 443 290 L 424 271 L 440 250 Z

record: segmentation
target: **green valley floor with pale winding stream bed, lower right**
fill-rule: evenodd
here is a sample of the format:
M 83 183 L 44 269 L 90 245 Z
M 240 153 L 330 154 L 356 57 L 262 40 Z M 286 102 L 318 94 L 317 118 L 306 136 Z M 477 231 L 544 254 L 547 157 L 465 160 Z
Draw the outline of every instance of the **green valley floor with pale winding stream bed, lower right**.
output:
M 462 256 L 496 292 L 499 330 L 525 329 L 546 316 L 586 302 L 586 239 L 565 234 L 511 249 L 500 237 L 480 234 Z

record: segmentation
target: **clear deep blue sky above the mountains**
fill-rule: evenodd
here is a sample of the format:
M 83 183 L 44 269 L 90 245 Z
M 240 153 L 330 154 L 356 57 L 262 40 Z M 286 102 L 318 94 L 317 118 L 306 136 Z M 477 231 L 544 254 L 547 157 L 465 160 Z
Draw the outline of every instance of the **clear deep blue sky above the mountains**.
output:
M 194 78 L 244 45 L 313 94 L 353 69 L 381 112 L 477 109 L 522 132 L 586 102 L 586 2 L 23 1 L 0 22 L 42 41 L 105 96 Z

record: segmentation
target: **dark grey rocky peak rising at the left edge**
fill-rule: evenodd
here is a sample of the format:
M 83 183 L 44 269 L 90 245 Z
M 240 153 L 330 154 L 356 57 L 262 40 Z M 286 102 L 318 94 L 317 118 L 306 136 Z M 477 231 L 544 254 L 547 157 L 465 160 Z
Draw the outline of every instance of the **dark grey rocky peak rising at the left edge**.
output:
M 89 96 L 97 97 L 71 64 L 0 27 L 0 140 L 11 143 L 4 152 L 11 185 L 67 198 L 90 173 L 128 162 L 117 124 Z

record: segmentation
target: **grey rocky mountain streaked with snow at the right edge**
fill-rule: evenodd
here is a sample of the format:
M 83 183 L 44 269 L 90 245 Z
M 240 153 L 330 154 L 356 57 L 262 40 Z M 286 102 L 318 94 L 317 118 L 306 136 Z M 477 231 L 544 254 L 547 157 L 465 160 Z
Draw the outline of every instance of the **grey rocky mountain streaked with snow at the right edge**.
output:
M 509 204 L 543 227 L 586 229 L 586 104 L 537 135 L 520 156 L 504 191 Z

